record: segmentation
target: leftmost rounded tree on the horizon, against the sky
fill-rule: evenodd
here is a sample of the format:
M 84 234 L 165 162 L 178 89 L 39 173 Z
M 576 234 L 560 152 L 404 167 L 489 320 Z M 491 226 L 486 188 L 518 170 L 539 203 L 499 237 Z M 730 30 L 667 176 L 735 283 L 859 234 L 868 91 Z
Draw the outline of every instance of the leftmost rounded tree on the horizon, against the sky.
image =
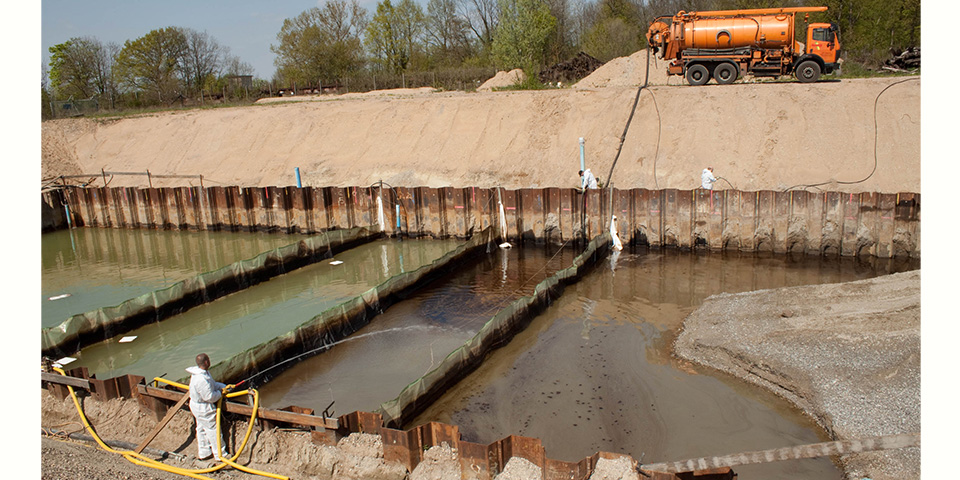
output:
M 95 37 L 71 38 L 50 47 L 50 84 L 56 98 L 111 93 L 114 55 Z

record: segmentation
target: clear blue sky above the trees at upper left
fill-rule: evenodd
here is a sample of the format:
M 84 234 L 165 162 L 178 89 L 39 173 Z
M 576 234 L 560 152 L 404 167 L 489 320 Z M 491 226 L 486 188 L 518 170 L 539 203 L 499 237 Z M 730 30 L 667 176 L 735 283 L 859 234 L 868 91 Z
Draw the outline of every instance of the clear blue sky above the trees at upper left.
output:
M 41 60 L 50 62 L 53 45 L 74 37 L 93 36 L 101 42 L 123 45 L 151 30 L 186 27 L 206 31 L 230 53 L 256 70 L 255 76 L 273 77 L 273 52 L 283 20 L 320 6 L 323 0 L 188 1 L 188 0 L 43 0 L 41 3 Z M 369 12 L 376 0 L 360 0 Z

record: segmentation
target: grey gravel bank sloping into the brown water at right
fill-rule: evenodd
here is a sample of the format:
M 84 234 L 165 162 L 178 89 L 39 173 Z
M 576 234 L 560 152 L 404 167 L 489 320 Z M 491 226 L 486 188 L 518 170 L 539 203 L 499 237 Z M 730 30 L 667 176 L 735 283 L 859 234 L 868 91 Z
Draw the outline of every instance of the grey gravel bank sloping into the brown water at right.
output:
M 920 433 L 919 270 L 712 296 L 675 352 L 770 389 L 837 440 Z M 920 478 L 919 448 L 840 461 L 848 478 Z

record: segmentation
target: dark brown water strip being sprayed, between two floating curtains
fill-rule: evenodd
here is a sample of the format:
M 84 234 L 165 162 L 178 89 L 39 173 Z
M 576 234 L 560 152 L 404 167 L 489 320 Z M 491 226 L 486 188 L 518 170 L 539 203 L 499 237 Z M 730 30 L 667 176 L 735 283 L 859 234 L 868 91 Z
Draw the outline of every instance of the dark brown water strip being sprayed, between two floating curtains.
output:
M 432 281 L 330 350 L 259 388 L 271 408 L 373 411 L 436 368 L 498 310 L 569 267 L 571 248 L 495 249 Z

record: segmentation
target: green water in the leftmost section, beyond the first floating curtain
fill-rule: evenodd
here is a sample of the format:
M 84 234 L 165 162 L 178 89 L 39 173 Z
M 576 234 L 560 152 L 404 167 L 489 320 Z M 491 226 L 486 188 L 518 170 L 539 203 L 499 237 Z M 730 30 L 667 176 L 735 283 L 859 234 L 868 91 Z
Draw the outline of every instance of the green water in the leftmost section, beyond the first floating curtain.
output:
M 296 243 L 298 235 L 74 228 L 40 236 L 41 326 Z M 51 300 L 52 299 L 52 300 Z

